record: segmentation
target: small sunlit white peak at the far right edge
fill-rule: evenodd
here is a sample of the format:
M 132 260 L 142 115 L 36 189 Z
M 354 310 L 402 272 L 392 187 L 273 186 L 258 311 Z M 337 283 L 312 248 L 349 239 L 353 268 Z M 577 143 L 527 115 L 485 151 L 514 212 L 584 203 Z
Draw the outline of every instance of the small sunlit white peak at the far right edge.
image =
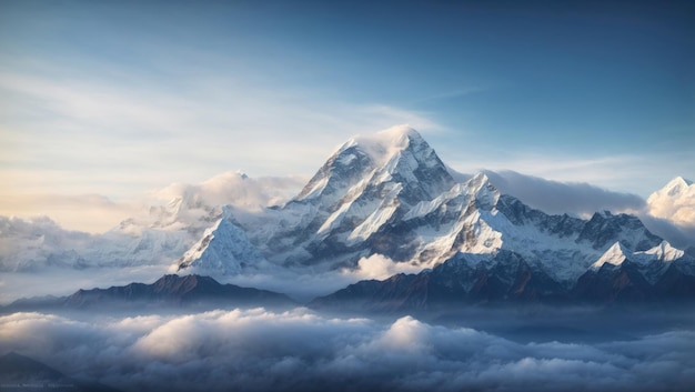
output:
M 647 199 L 649 214 L 695 228 L 695 184 L 676 177 Z

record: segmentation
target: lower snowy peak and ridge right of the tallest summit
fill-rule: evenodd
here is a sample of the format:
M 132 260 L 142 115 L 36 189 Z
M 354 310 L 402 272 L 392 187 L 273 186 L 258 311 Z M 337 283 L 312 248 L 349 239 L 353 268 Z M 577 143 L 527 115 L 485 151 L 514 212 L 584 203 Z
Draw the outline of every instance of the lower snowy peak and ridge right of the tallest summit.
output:
M 484 173 L 419 203 L 403 220 L 407 229 L 396 228 L 414 233 L 412 254 L 419 263 L 432 268 L 456 254 L 494 255 L 505 250 L 565 285 L 618 241 L 629 253 L 661 242 L 635 217 L 597 213 L 585 221 L 531 209 L 500 194 Z

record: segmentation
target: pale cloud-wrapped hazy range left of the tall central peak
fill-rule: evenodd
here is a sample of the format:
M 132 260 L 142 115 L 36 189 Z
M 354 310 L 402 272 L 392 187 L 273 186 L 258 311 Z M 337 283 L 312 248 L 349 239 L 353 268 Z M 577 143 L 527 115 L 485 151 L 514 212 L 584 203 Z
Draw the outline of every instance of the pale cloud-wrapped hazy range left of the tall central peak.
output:
M 66 230 L 46 217 L 0 217 L 0 271 L 168 265 L 220 220 L 222 205 L 236 213 L 260 211 L 289 200 L 299 183 L 295 178 L 254 179 L 241 172 L 200 184 L 173 183 L 152 192 L 142 214 L 99 234 Z

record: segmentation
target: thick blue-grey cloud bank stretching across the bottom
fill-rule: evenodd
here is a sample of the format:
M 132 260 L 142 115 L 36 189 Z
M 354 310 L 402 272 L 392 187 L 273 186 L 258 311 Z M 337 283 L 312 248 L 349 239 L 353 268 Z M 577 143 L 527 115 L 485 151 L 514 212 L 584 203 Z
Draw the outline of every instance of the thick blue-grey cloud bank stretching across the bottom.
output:
M 517 343 L 404 316 L 380 323 L 304 309 L 90 321 L 0 318 L 0 351 L 127 391 L 686 391 L 695 332 L 631 341 Z

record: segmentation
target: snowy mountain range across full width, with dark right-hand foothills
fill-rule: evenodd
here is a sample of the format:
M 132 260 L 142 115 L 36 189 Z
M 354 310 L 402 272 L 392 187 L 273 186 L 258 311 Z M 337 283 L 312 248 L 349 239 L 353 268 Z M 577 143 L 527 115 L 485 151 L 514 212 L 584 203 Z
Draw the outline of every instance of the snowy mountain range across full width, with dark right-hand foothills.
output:
M 238 175 L 243 187 L 249 179 Z M 224 277 L 354 271 L 380 258 L 394 271 L 422 271 L 359 282 L 314 301 L 324 306 L 344 298 L 367 308 L 399 309 L 454 299 L 694 296 L 693 250 L 676 249 L 636 215 L 551 214 L 502 192 L 495 181 L 504 182 L 504 175 L 453 172 L 420 133 L 394 127 L 349 140 L 282 204 L 209 204 L 189 194 L 97 239 L 73 233 L 72 249 L 43 247 L 51 239 L 34 232 L 33 248 L 0 261 L 6 268 L 11 262 L 37 268 L 37 254 L 44 251 L 44 263 L 81 268 L 175 260 L 172 272 Z M 508 183 L 503 188 L 513 191 Z M 693 192 L 691 182 L 676 178 L 648 205 L 654 217 L 687 223 Z M 3 222 L 10 229 L 19 223 Z

